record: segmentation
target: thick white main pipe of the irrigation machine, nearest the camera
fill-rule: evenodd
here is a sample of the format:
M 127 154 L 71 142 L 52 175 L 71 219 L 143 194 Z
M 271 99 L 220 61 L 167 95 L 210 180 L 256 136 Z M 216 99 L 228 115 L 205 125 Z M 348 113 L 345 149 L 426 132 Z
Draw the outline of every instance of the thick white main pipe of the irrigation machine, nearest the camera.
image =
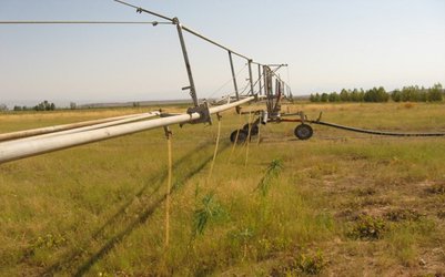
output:
M 250 96 L 233 103 L 213 106 L 209 109 L 210 114 L 220 113 L 241 104 L 253 101 Z M 57 136 L 42 137 L 39 140 L 23 141 L 17 140 L 7 143 L 0 143 L 0 163 L 11 162 L 28 156 L 40 155 L 58 150 L 69 148 L 82 144 L 109 140 L 117 136 L 133 134 L 136 132 L 169 126 L 179 123 L 188 123 L 199 120 L 200 113 L 180 114 L 170 117 L 161 117 L 150 121 L 132 122 L 117 126 L 90 130 L 79 133 L 61 134 Z

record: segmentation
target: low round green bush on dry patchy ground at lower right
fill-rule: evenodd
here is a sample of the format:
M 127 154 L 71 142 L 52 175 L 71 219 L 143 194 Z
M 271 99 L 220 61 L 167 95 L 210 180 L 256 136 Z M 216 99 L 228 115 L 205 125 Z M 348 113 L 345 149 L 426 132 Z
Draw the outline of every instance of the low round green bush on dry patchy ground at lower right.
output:
M 381 239 L 387 229 L 388 226 L 382 218 L 361 215 L 348 232 L 348 236 L 355 239 L 375 240 Z

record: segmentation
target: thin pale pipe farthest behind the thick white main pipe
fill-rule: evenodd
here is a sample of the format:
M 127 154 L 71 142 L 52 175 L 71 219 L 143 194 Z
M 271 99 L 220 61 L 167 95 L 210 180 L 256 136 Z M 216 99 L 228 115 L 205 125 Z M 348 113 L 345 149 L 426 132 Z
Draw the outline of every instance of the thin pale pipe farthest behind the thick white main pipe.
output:
M 28 136 L 33 136 L 33 135 L 54 133 L 54 132 L 71 130 L 71 129 L 77 129 L 77 127 L 90 126 L 93 124 L 100 124 L 100 123 L 112 122 L 112 121 L 117 121 L 117 120 L 130 119 L 130 117 L 134 117 L 134 116 L 139 116 L 139 115 L 141 115 L 141 114 L 128 114 L 128 115 L 120 115 L 120 116 L 108 117 L 108 119 L 82 121 L 82 122 L 69 123 L 69 124 L 63 124 L 63 125 L 55 125 L 55 126 L 39 127 L 39 129 L 31 129 L 31 130 L 4 133 L 4 134 L 0 134 L 0 142 L 16 140 L 16 138 L 22 138 L 22 137 L 28 137 Z

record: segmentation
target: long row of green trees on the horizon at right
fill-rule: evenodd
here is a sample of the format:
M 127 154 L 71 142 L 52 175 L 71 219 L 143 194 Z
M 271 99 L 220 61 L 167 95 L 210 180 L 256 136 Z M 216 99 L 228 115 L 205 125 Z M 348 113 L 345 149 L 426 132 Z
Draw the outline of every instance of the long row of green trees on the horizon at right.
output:
M 313 93 L 311 102 L 438 102 L 443 101 L 444 89 L 441 83 L 425 89 L 418 85 L 404 86 L 402 90 L 386 92 L 383 86 L 364 91 L 363 89 L 346 90 L 340 93 Z

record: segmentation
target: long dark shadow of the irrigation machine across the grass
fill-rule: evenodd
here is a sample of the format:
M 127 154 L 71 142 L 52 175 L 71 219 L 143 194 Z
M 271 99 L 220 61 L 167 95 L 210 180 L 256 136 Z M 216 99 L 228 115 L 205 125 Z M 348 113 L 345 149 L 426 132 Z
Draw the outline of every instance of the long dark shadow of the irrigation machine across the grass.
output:
M 202 152 L 203 148 L 205 148 L 212 144 L 213 144 L 213 142 L 203 143 L 203 144 L 199 145 L 198 147 L 195 147 L 194 150 L 192 150 L 191 152 L 189 152 L 188 154 L 185 154 L 180 160 L 178 160 L 173 164 L 173 174 L 174 174 L 175 170 L 180 168 L 181 166 L 191 165 L 190 161 L 195 161 L 195 160 L 193 160 L 193 157 L 195 155 L 199 155 L 199 153 Z M 221 153 L 222 151 L 224 151 L 227 147 L 229 147 L 229 144 L 222 144 L 220 146 L 219 152 Z M 193 164 L 193 167 L 186 174 L 184 174 L 182 176 L 178 176 L 175 179 L 175 183 L 172 187 L 171 194 L 174 193 L 179 187 L 181 187 L 182 184 L 184 184 L 185 182 L 191 179 L 194 175 L 196 175 L 200 171 L 202 171 L 205 167 L 205 165 L 212 161 L 212 157 L 213 156 L 209 156 L 209 157 L 202 160 L 200 163 Z M 168 177 L 166 171 L 163 171 L 162 173 L 158 174 L 158 176 L 150 177 L 146 181 L 145 185 L 135 194 L 135 197 L 140 198 L 140 197 L 144 196 L 144 192 L 150 187 L 150 185 L 152 185 L 153 183 L 158 183 L 158 186 L 154 187 L 154 189 L 149 195 L 150 198 L 154 197 L 155 194 L 159 192 L 160 187 L 162 186 L 162 184 L 165 182 L 166 177 Z M 146 208 L 139 212 L 138 219 L 131 222 L 130 224 L 128 224 L 128 227 L 125 227 L 123 230 L 113 235 L 107 243 L 103 244 L 103 246 L 98 252 L 92 254 L 79 268 L 77 268 L 75 273 L 73 275 L 82 276 L 85 273 L 88 273 L 88 270 L 98 260 L 100 260 L 102 257 L 104 257 L 127 235 L 131 234 L 131 232 L 133 232 L 136 227 L 144 224 L 151 217 L 151 215 L 156 211 L 156 208 L 164 202 L 165 197 L 166 197 L 166 194 L 161 195 L 161 197 L 159 197 L 156 201 L 154 201 L 150 205 L 148 205 Z M 132 199 L 128 201 L 124 205 L 122 205 L 122 207 L 113 216 L 111 216 L 97 232 L 94 232 L 94 234 L 91 235 L 91 238 L 98 239 L 100 237 L 100 235 L 108 227 L 112 227 L 113 225 L 115 225 L 114 223 L 117 223 L 120 217 L 127 215 L 125 209 L 133 203 L 133 201 L 134 201 L 134 197 Z M 83 253 L 84 253 L 83 250 L 75 250 L 71 255 L 68 255 L 65 258 L 63 258 L 63 260 L 58 261 L 58 263 L 53 264 L 52 266 L 50 266 L 44 271 L 43 275 L 52 276 L 62 270 L 69 270 L 69 267 L 74 266 L 73 263 L 75 264 L 78 260 L 81 259 L 80 256 Z

